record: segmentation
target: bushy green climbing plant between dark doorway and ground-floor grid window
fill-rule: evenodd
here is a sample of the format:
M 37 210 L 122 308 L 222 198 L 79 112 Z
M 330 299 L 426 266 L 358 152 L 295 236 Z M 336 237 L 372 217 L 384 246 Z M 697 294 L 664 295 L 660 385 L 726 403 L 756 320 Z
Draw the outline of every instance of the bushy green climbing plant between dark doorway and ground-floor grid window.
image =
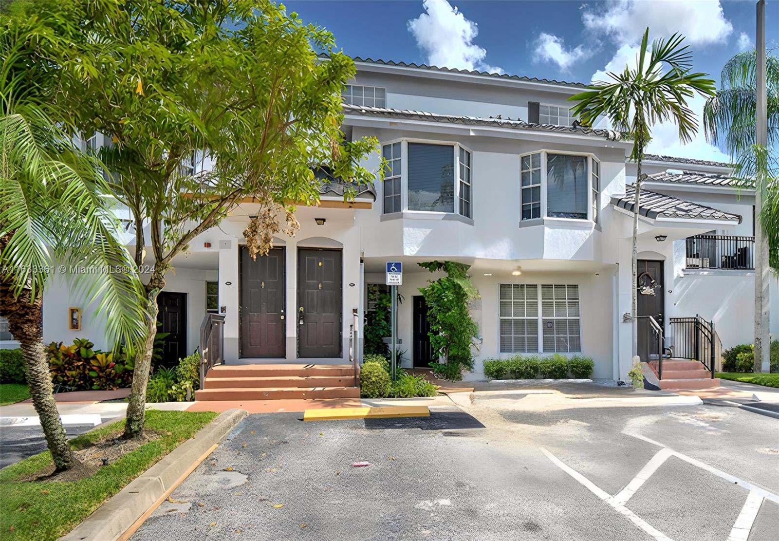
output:
M 445 362 L 431 362 L 431 366 L 450 380 L 460 380 L 463 370 L 474 368 L 472 348 L 479 333 L 479 326 L 468 311 L 471 301 L 479 296 L 468 278 L 470 267 L 453 261 L 418 264 L 430 272 L 446 272 L 442 278 L 428 280 L 429 285 L 419 288 L 419 292 L 428 305 L 430 345 Z

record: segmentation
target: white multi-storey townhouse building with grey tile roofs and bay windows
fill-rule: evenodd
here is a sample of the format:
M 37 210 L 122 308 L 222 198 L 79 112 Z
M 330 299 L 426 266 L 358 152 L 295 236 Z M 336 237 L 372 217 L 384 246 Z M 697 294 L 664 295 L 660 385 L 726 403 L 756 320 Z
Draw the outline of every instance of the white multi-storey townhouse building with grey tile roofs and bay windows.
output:
M 344 133 L 378 138 L 381 155 L 366 165 L 378 170 L 384 157 L 384 179 L 345 202 L 344 186 L 323 177 L 319 206 L 298 207 L 298 234 L 278 235 L 256 261 L 242 235 L 252 203 L 199 235 L 160 295 L 171 355 L 198 347 L 211 311 L 224 315 L 227 365 L 348 362 L 351 339 L 360 356 L 369 292 L 384 287 L 386 261 L 404 263 L 407 367 L 436 360 L 418 291 L 436 277 L 418 267 L 430 260 L 470 265 L 481 295 L 471 307 L 478 360 L 466 379 L 483 377 L 484 359 L 557 352 L 592 357 L 595 378 L 626 380 L 633 288 L 645 360 L 657 356 L 649 316 L 665 346 L 676 338 L 671 319 L 696 314 L 714 322 L 724 347 L 751 341 L 754 196 L 728 185 L 727 164 L 647 158 L 636 285 L 632 143 L 576 124 L 568 98 L 582 84 L 355 63 Z M 83 329 L 67 330 L 62 307 L 75 302 L 64 285 L 48 288 L 44 339 L 105 346 L 88 306 Z

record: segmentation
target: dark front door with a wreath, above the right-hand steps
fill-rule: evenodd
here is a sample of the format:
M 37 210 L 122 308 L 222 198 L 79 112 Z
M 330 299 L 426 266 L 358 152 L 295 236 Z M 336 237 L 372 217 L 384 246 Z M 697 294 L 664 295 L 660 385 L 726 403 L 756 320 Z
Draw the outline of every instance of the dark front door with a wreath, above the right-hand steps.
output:
M 664 325 L 663 262 L 638 260 L 637 263 L 638 354 L 643 362 L 649 362 L 650 355 L 657 355 L 657 345 L 647 316 L 654 317 L 660 327 Z

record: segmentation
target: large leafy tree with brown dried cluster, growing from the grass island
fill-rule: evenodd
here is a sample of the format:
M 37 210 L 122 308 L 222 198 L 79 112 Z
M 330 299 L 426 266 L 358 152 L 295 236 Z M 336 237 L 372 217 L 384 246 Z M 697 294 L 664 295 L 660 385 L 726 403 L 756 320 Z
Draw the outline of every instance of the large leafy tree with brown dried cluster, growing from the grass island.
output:
M 109 136 L 111 190 L 132 213 L 136 263 L 148 231 L 146 342 L 136 356 L 125 436 L 143 430 L 157 295 L 173 259 L 245 200 L 252 256 L 298 229 L 316 204 L 314 168 L 369 183 L 361 158 L 375 139 L 345 140 L 340 93 L 354 76 L 333 36 L 266 0 L 83 4 L 83 42 L 62 51 L 58 102 L 84 133 Z M 325 51 L 320 58 L 317 51 Z M 213 163 L 192 172 L 196 160 Z M 347 197 L 354 191 L 347 193 Z

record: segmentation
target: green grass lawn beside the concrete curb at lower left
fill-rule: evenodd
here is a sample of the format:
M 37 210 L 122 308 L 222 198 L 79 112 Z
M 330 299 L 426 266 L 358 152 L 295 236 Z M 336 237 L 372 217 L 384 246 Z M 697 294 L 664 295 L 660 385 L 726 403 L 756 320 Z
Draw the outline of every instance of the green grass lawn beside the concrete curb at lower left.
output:
M 213 412 L 146 412 L 146 428 L 162 434 L 117 461 L 101 467 L 93 476 L 69 483 L 18 482 L 20 476 L 51 465 L 45 451 L 0 470 L 0 539 L 57 539 L 83 521 L 122 487 L 145 472 L 160 458 L 206 426 Z M 122 433 L 124 421 L 93 430 L 70 440 L 71 447 L 87 447 L 108 434 Z

